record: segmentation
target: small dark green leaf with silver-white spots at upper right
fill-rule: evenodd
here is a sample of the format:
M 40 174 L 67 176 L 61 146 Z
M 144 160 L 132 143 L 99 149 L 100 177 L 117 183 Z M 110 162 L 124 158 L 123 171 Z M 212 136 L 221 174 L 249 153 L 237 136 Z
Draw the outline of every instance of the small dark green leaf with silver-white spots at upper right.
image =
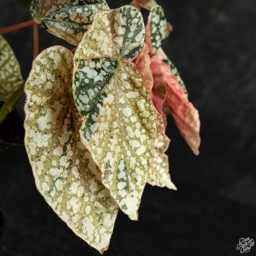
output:
M 163 40 L 166 38 L 166 17 L 163 8 L 159 5 L 154 5 L 150 9 L 148 15 L 148 24 L 150 29 L 151 43 L 154 49 L 161 47 Z

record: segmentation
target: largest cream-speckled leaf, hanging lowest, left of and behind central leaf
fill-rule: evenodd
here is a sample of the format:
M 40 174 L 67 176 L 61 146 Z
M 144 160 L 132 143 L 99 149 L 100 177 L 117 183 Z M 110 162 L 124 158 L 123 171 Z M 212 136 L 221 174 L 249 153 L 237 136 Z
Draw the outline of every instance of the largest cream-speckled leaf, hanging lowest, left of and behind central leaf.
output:
M 118 206 L 80 140 L 72 58 L 62 46 L 35 58 L 25 84 L 25 145 L 38 191 L 77 236 L 103 253 Z

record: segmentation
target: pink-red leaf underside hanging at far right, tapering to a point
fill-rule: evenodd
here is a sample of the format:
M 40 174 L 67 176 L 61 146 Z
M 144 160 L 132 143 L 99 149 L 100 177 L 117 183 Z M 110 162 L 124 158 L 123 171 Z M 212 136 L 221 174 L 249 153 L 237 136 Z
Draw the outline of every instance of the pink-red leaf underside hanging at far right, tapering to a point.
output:
M 198 111 L 186 97 L 178 81 L 172 76 L 172 71 L 168 64 L 162 61 L 161 71 L 167 86 L 166 104 L 186 143 L 194 154 L 198 155 L 201 142 L 200 120 Z

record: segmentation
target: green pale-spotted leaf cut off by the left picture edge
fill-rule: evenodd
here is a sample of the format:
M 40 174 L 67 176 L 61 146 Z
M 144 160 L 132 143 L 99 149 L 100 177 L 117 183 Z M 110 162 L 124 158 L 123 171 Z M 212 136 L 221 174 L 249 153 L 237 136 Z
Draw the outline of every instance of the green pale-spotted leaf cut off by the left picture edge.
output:
M 14 52 L 0 35 L 0 98 L 8 99 L 22 82 L 20 65 Z

